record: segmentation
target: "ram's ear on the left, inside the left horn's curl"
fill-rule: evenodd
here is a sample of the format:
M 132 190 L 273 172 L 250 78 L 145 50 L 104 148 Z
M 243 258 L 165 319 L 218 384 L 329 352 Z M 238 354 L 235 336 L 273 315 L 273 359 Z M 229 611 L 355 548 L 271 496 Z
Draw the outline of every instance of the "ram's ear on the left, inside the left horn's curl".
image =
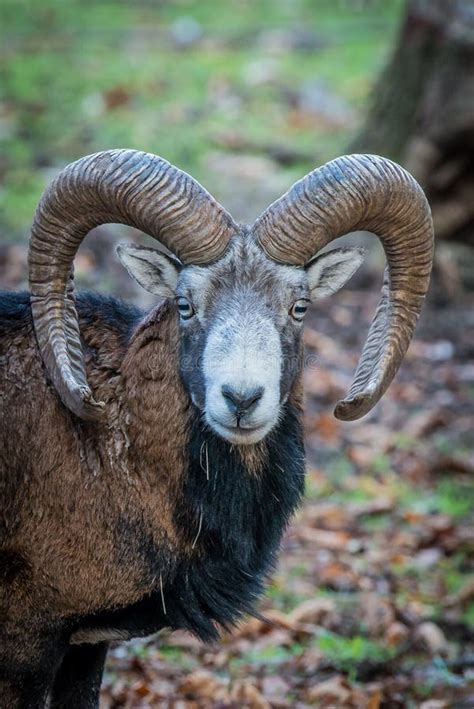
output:
M 161 298 L 174 298 L 182 268 L 177 258 L 135 244 L 119 244 L 117 255 L 122 266 L 142 288 Z

